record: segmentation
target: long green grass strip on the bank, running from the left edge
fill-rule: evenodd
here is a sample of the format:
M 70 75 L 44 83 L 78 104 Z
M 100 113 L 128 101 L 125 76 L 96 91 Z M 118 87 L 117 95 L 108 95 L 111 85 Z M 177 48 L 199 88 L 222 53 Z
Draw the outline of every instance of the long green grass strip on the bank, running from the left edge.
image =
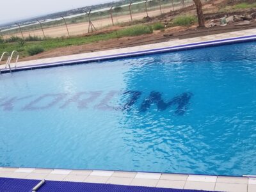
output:
M 124 36 L 138 36 L 138 35 L 150 34 L 150 33 L 153 33 L 153 29 L 151 26 L 138 25 L 138 26 L 132 26 L 131 28 L 120 29 L 118 31 L 113 31 L 111 33 L 104 33 L 99 35 L 76 36 L 72 38 L 48 38 L 45 41 L 37 41 L 38 39 L 36 37 L 33 37 L 33 39 L 36 41 L 34 42 L 25 41 L 24 43 L 20 40 L 20 38 L 11 37 L 12 40 L 10 41 L 9 40 L 5 42 L 0 41 L 0 55 L 4 51 L 12 52 L 13 50 L 16 50 L 16 51 L 19 51 L 19 54 L 21 57 L 26 57 L 31 55 L 31 50 L 37 49 L 35 47 L 38 47 L 38 46 L 40 46 L 40 48 L 42 48 L 44 51 L 49 51 L 51 49 L 55 49 L 58 47 L 90 44 L 92 42 L 98 42 L 102 40 L 121 38 Z M 36 52 L 36 53 L 39 53 L 39 52 Z

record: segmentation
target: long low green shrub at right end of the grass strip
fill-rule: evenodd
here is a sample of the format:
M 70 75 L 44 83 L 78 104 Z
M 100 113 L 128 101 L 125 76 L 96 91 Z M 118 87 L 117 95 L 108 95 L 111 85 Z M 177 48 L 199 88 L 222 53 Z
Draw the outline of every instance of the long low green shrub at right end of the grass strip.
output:
M 137 36 L 137 35 L 150 34 L 150 33 L 153 33 L 152 27 L 145 26 L 145 25 L 133 26 L 131 28 L 126 28 L 120 31 L 116 31 L 116 35 L 118 37 Z

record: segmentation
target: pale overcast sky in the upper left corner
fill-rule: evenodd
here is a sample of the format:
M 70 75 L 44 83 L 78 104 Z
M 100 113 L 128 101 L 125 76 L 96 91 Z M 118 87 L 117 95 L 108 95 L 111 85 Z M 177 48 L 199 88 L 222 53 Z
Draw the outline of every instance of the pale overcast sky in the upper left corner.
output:
M 0 6 L 0 24 L 108 2 L 111 0 L 3 0 Z

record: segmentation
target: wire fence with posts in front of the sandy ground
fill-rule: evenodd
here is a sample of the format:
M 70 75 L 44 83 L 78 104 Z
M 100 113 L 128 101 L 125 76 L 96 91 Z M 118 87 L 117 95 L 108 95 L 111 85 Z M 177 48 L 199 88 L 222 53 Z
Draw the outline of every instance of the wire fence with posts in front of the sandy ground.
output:
M 202 0 L 206 1 L 206 0 Z M 56 17 L 49 20 L 35 20 L 29 24 L 12 26 L 2 29 L 2 38 L 19 36 L 31 38 L 38 36 L 42 39 L 47 37 L 75 36 L 90 33 L 95 29 L 118 25 L 124 22 L 134 22 L 145 17 L 155 17 L 163 13 L 172 12 L 193 5 L 193 0 L 145 0 L 122 6 L 104 8 L 102 10 L 88 10 L 88 12 Z

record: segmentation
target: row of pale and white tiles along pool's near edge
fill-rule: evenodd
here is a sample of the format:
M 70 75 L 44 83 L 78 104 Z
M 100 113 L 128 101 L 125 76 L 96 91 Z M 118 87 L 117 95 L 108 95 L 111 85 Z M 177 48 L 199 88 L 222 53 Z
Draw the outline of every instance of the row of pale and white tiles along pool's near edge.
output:
M 227 192 L 255 192 L 256 189 L 255 177 L 214 175 L 44 168 L 0 168 L 0 177 Z

